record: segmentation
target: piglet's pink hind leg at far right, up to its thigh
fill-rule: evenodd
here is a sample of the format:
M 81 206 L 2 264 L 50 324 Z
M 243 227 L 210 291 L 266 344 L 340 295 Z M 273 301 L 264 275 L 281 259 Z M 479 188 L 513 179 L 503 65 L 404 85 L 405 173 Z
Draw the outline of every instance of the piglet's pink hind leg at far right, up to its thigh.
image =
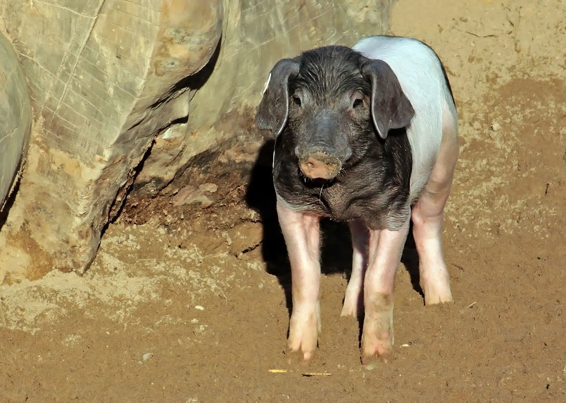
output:
M 426 187 L 411 211 L 426 305 L 452 301 L 450 276 L 442 253 L 442 222 L 457 158 L 457 140 L 444 142 Z

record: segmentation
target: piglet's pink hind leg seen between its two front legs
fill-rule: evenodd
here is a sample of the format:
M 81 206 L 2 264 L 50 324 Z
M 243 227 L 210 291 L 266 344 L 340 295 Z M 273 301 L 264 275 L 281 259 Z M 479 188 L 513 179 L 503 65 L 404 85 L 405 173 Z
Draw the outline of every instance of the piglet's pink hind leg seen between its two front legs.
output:
M 352 272 L 340 316 L 358 317 L 363 313 L 363 276 L 367 267 L 367 245 L 370 233 L 359 221 L 350 222 L 352 238 Z

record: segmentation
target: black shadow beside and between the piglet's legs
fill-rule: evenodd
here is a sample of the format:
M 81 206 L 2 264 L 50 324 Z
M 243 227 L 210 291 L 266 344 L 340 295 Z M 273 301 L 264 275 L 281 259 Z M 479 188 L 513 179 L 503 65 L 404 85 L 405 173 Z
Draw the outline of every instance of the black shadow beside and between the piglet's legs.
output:
M 277 277 L 285 291 L 286 306 L 290 315 L 292 308 L 291 270 L 285 240 L 277 220 L 276 196 L 272 178 L 274 144 L 275 142 L 270 139 L 260 148 L 258 158 L 252 168 L 246 192 L 246 203 L 260 215 L 263 226 L 261 256 L 267 265 L 267 272 Z M 349 279 L 352 246 L 348 224 L 323 219 L 320 229 L 323 240 L 321 242 L 322 273 L 343 273 Z M 418 255 L 411 232 L 405 244 L 401 262 L 409 272 L 413 289 L 423 295 L 419 286 Z

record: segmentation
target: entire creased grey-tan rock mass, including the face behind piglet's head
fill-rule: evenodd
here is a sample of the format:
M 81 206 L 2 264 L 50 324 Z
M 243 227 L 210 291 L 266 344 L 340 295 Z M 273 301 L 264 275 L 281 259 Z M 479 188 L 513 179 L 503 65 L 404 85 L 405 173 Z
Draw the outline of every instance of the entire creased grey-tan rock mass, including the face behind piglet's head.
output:
M 387 32 L 391 2 L 2 2 L 37 129 L 0 281 L 84 272 L 134 180 L 160 190 L 250 121 L 276 60 Z

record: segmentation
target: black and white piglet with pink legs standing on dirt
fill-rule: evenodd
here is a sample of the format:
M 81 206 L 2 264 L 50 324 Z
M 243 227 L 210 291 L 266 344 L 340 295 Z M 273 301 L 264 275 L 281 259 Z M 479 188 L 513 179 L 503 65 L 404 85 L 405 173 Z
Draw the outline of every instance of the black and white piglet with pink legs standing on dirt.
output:
M 341 315 L 363 315 L 362 362 L 387 362 L 411 219 L 424 301 L 452 301 L 441 228 L 457 115 L 438 56 L 411 38 L 372 36 L 282 59 L 255 122 L 275 136 L 273 183 L 292 279 L 289 349 L 308 361 L 318 343 L 319 222 L 327 217 L 349 223 L 353 245 Z

